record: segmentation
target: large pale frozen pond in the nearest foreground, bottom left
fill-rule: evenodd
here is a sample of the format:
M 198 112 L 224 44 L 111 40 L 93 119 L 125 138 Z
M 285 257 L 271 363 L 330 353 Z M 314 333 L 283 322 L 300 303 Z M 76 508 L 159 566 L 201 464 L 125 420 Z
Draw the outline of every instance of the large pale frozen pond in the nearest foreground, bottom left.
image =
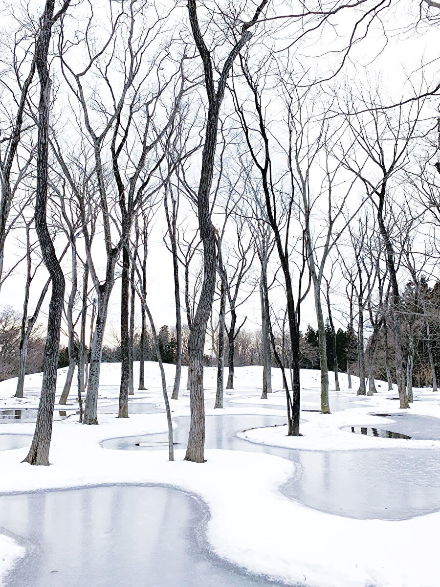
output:
M 6 587 L 274 587 L 208 551 L 206 513 L 169 487 L 111 486 L 0 498 L 26 546 Z

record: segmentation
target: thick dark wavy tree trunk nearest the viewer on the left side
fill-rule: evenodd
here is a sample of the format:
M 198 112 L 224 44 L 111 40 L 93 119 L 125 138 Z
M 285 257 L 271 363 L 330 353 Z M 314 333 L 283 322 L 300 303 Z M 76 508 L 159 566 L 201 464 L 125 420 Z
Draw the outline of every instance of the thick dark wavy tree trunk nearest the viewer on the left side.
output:
M 55 406 L 56 372 L 59 357 L 60 328 L 63 311 L 65 281 L 57 259 L 46 220 L 48 198 L 48 147 L 50 79 L 48 68 L 49 43 L 52 36 L 54 0 L 47 0 L 45 11 L 40 18 L 40 30 L 35 44 L 35 63 L 40 80 L 38 108 L 37 181 L 35 198 L 35 228 L 42 251 L 43 261 L 52 279 L 48 315 L 48 336 L 46 339 L 43 384 L 38 406 L 35 433 L 25 461 L 31 465 L 49 465 L 49 447 L 52 438 L 53 407 Z M 67 8 L 68 2 L 65 4 Z

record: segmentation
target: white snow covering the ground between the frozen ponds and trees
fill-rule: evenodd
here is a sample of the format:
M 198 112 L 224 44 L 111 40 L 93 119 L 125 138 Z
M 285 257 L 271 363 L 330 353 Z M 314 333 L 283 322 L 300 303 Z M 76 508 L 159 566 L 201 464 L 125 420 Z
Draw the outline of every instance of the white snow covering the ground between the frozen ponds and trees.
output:
M 163 407 L 160 373 L 155 363 L 146 363 L 147 392 L 135 392 L 136 402 Z M 174 367 L 167 365 L 167 382 L 171 386 Z M 135 381 L 137 379 L 135 367 Z M 101 442 L 115 437 L 130 437 L 160 433 L 166 430 L 164 413 L 132 414 L 129 419 L 117 419 L 117 414 L 104 414 L 105 406 L 114 404 L 119 393 L 120 366 L 115 363 L 101 367 L 99 426 L 81 426 L 75 414 L 75 392 L 69 398 L 70 415 L 55 421 L 50 449 L 50 467 L 32 467 L 21 463 L 27 447 L 0 452 L 0 493 L 86 487 L 103 484 L 163 484 L 181 488 L 197 495 L 209 508 L 207 539 L 213 551 L 249 571 L 264 573 L 288 585 L 304 584 L 316 587 L 437 587 L 440 565 L 436 536 L 440 512 L 418 515 L 411 519 L 356 519 L 331 515 L 307 507 L 286 497 L 280 488 L 287 481 L 295 483 L 304 473 L 295 461 L 264 454 L 258 450 L 206 451 L 207 463 L 183 461 L 184 450 L 177 450 L 175 462 L 168 462 L 164 450 L 124 451 L 103 448 Z M 59 372 L 59 393 L 66 369 Z M 189 397 L 184 389 L 186 370 L 182 373 L 181 397 L 171 402 L 173 417 L 187 416 Z M 236 368 L 235 390 L 225 394 L 226 406 L 221 413 L 276 414 L 285 413 L 285 397 L 276 391 L 269 400 L 259 400 L 261 367 Z M 41 375 L 26 377 L 25 398 L 13 399 L 15 380 L 0 383 L 0 409 L 24 409 L 38 406 Z M 371 413 L 397 413 L 398 402 L 390 400 L 397 392 L 388 392 L 380 383 L 379 393 L 372 398 L 356 397 L 347 389 L 342 375 L 341 392 L 331 392 L 331 415 L 312 411 L 302 413 L 302 434 L 286 437 L 282 426 L 248 430 L 241 435 L 252 443 L 309 451 L 353 451 L 382 448 L 417 448 L 436 451 L 440 440 L 395 440 L 369 437 L 341 430 L 346 426 L 382 426 L 397 422 L 392 417 L 371 416 Z M 273 389 L 281 389 L 280 373 L 273 370 Z M 330 376 L 330 388 L 331 388 Z M 302 407 L 319 409 L 319 372 L 302 372 Z M 205 369 L 207 414 L 214 410 L 215 368 Z M 413 426 L 424 422 L 428 438 L 435 437 L 436 422 L 440 422 L 440 394 L 431 390 L 416 390 L 411 416 L 418 416 Z M 235 402 L 235 403 L 233 403 Z M 265 406 L 270 405 L 268 409 Z M 232 407 L 235 406 L 235 407 Z M 57 406 L 58 407 L 58 406 Z M 60 407 L 60 409 L 63 409 Z M 402 412 L 402 410 L 400 410 Z M 67 411 L 69 414 L 69 411 Z M 424 420 L 424 416 L 431 420 Z M 35 424 L 0 421 L 0 434 L 29 434 Z M 440 426 L 440 424 L 439 424 Z M 398 428 L 394 428 L 398 430 Z M 432 434 L 431 434 L 432 433 Z M 412 435 L 411 435 L 412 436 Z M 29 436 L 29 443 L 31 440 Z M 378 454 L 381 451 L 378 450 Z M 380 459 L 378 459 L 380 466 Z M 427 483 L 430 471 L 427 471 Z M 433 472 L 434 474 L 434 472 Z M 434 477 L 433 477 L 434 478 Z M 432 481 L 432 480 L 431 480 Z M 331 491 L 323 487 L 323 491 Z M 411 492 L 411 486 L 408 487 Z M 6 500 L 7 497 L 0 497 Z M 440 488 L 438 498 L 440 511 Z M 172 523 L 172 519 L 170 519 Z M 0 524 L 1 525 L 1 524 Z M 8 534 L 8 528 L 5 530 Z M 0 540 L 0 577 L 13 561 L 21 564 L 25 555 L 20 537 L 9 535 Z M 1 580 L 1 579 L 0 579 Z M 109 587 L 111 583 L 108 583 Z M 112 585 L 113 587 L 113 585 Z

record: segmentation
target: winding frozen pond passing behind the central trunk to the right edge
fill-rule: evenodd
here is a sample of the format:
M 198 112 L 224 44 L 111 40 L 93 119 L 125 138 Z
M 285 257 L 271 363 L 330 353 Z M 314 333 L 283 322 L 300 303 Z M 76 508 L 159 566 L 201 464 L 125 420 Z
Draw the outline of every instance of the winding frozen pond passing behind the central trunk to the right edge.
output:
M 175 421 L 178 427 L 174 431 L 174 441 L 178 443 L 177 448 L 185 448 L 189 419 L 181 416 Z M 205 446 L 263 452 L 295 461 L 299 465 L 299 478 L 287 483 L 283 493 L 331 514 L 363 519 L 406 519 L 440 509 L 440 450 L 306 451 L 253 444 L 236 436 L 241 430 L 285 421 L 285 417 L 270 415 L 207 416 Z M 387 428 L 389 426 L 387 424 Z M 105 448 L 122 450 L 154 450 L 165 449 L 166 441 L 166 434 L 147 434 L 113 438 L 101 444 Z

